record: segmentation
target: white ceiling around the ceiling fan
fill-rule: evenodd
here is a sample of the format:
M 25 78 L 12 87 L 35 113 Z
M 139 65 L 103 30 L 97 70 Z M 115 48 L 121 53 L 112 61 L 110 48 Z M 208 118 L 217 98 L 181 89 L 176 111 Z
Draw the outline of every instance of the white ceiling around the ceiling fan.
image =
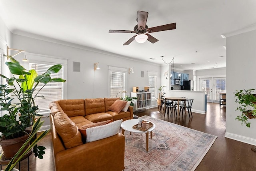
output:
M 133 30 L 138 10 L 149 13 L 148 27 L 176 22 L 176 29 L 151 33 L 159 40 L 155 44 L 123 46 L 136 34 L 108 30 Z M 256 0 L 0 0 L 0 16 L 14 34 L 157 64 L 164 64 L 160 56 L 166 62 L 174 57 L 176 68 L 202 70 L 226 67 L 226 39 L 220 35 L 256 24 Z

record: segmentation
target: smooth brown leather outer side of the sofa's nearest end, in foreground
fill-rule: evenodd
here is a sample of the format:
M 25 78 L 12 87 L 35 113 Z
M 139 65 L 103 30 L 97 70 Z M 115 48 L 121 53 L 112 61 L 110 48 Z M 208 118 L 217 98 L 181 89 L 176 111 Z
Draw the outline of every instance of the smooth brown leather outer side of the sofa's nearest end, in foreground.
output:
M 56 171 L 122 171 L 124 170 L 124 143 L 124 135 L 118 133 L 60 151 L 55 156 Z

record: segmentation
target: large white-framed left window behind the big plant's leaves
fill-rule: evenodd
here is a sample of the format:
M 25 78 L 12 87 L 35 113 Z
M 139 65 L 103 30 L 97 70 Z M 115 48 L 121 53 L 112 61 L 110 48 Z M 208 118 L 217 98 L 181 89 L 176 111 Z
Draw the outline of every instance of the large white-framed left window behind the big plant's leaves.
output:
M 61 64 L 62 69 L 56 73 L 51 74 L 52 78 L 62 78 L 66 80 L 66 63 L 67 60 L 59 59 L 55 57 L 43 56 L 30 54 L 27 52 L 27 58 L 29 62 L 24 63 L 24 68 L 29 68 L 30 70 L 36 70 L 38 75 L 44 74 L 48 68 L 53 65 Z M 44 84 L 38 84 L 36 87 L 36 91 L 34 91 L 34 95 L 38 92 L 40 88 L 43 87 Z M 49 103 L 54 100 L 65 99 L 66 98 L 66 84 L 62 82 L 50 82 L 40 90 L 37 96 L 43 95 L 45 99 L 41 97 L 37 97 L 35 103 L 38 105 L 40 111 L 39 114 L 48 115 L 49 114 Z

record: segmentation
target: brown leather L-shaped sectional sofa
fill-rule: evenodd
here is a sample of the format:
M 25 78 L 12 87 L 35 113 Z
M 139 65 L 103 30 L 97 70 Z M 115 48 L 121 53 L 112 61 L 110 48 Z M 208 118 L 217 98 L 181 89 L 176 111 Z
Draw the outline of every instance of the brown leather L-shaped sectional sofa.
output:
M 119 98 L 67 99 L 49 104 L 56 171 L 124 170 L 124 135 L 82 142 L 78 128 L 106 121 L 132 119 L 133 108 L 116 113 L 108 108 Z

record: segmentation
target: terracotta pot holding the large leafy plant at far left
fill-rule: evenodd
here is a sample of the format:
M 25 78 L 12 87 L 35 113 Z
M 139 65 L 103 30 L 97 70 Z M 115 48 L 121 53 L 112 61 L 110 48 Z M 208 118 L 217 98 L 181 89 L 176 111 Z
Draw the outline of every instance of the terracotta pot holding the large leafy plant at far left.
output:
M 32 130 L 26 130 L 27 133 L 30 133 L 31 131 Z M 0 145 L 2 146 L 6 159 L 12 159 L 12 157 L 14 157 L 14 155 L 17 153 L 17 151 L 20 149 L 20 147 L 25 143 L 27 139 L 28 139 L 28 135 L 24 135 L 22 137 L 13 138 L 13 139 L 2 139 L 0 141 Z M 22 153 L 28 148 L 28 145 L 22 151 Z

